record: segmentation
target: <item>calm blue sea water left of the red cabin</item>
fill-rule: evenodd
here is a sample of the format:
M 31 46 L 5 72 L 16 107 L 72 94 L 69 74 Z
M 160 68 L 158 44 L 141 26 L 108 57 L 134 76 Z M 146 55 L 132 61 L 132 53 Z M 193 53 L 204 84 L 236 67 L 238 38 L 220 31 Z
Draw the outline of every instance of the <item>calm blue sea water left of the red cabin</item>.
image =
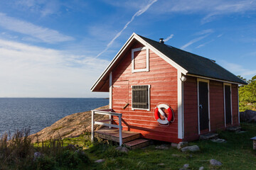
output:
M 22 128 L 30 128 L 33 134 L 66 115 L 108 103 L 104 98 L 0 98 L 0 136 Z

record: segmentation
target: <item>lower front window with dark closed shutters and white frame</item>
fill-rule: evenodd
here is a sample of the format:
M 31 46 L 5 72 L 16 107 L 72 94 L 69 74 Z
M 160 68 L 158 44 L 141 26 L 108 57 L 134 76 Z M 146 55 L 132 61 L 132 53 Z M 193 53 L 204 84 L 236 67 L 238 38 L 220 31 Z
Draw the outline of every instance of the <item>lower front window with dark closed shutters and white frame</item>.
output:
M 132 110 L 150 111 L 149 89 L 150 85 L 132 86 Z

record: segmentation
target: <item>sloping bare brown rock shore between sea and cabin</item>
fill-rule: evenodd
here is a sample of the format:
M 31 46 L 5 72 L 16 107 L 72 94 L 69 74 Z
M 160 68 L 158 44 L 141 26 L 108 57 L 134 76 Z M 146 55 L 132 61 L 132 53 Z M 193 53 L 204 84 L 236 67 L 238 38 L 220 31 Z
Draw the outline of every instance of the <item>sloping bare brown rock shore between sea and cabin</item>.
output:
M 102 106 L 96 109 L 107 109 L 109 106 Z M 64 118 L 58 120 L 47 128 L 30 135 L 32 142 L 39 142 L 65 137 L 77 137 L 85 132 L 90 132 L 92 113 L 91 111 L 86 111 L 82 113 L 74 113 L 72 115 L 67 115 Z M 95 121 L 107 119 L 108 115 L 95 115 Z M 100 125 L 95 125 L 95 129 L 101 128 Z

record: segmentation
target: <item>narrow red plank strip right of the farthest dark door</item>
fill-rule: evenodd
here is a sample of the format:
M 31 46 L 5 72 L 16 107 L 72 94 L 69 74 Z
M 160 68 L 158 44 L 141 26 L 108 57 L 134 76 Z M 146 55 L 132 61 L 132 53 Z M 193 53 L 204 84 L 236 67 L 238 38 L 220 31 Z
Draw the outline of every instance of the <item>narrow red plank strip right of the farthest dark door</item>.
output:
M 238 84 L 232 84 L 232 117 L 233 125 L 239 125 L 238 122 Z

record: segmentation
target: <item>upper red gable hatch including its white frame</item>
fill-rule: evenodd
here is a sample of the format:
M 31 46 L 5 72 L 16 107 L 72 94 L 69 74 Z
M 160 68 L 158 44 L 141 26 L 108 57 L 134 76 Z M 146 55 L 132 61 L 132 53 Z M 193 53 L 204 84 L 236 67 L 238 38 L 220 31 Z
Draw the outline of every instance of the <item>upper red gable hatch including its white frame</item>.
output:
M 132 72 L 149 72 L 149 48 L 132 49 Z

